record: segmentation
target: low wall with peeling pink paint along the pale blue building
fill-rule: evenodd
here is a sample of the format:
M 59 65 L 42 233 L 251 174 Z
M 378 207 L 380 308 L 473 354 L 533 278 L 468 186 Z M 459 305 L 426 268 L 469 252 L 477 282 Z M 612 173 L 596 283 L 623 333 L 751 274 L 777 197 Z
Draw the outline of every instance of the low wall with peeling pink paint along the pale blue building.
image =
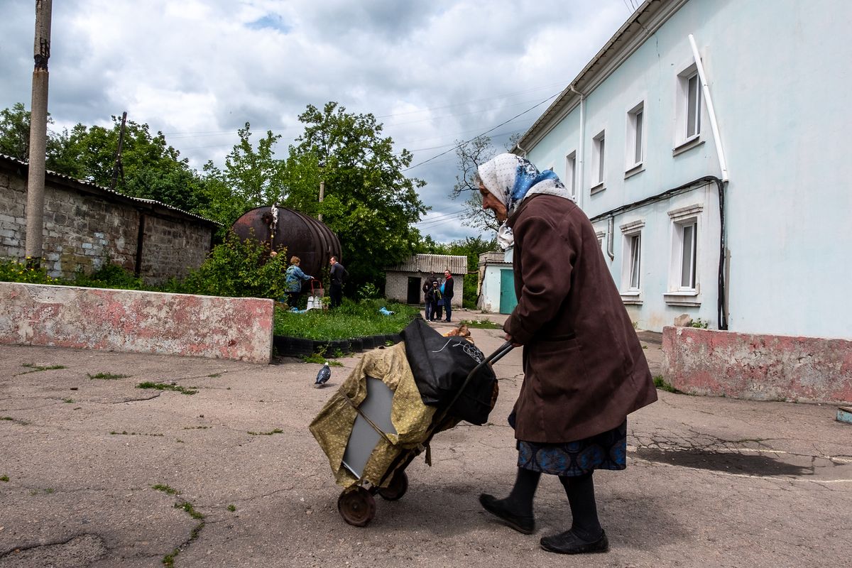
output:
M 663 378 L 692 394 L 849 402 L 852 341 L 667 326 Z

